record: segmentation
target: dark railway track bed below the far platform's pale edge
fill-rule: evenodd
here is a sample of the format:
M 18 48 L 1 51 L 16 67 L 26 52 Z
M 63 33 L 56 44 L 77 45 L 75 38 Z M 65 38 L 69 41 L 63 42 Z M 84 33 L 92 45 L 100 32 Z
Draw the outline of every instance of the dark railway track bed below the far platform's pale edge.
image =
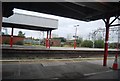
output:
M 114 56 L 116 50 L 110 50 L 109 56 Z M 103 57 L 104 50 L 50 50 L 50 49 L 18 49 L 2 48 L 2 58 L 88 58 Z

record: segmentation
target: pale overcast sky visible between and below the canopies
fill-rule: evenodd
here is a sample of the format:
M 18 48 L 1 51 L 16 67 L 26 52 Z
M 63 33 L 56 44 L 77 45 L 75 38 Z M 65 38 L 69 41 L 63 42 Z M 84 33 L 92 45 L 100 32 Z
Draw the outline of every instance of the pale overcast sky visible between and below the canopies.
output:
M 84 22 L 84 21 L 74 20 L 70 18 L 47 15 L 47 14 L 37 13 L 37 12 L 30 12 L 30 11 L 20 10 L 20 9 L 14 9 L 14 12 L 58 19 L 58 29 L 53 30 L 52 34 L 58 35 L 59 37 L 67 38 L 69 36 L 70 38 L 72 38 L 72 36 L 75 35 L 75 27 L 74 27 L 75 25 L 79 25 L 77 27 L 77 35 L 80 37 L 83 37 L 84 39 L 87 39 L 88 34 L 93 30 L 96 30 L 98 28 L 105 28 L 103 20 Z M 32 31 L 32 30 L 23 30 L 23 29 L 14 29 L 14 35 L 17 35 L 18 31 L 20 30 L 25 33 L 26 37 L 34 37 L 34 38 L 43 37 L 42 32 Z M 11 28 L 9 28 L 8 30 L 9 34 L 10 32 L 11 32 Z M 46 36 L 46 33 L 44 34 L 44 37 L 45 36 Z

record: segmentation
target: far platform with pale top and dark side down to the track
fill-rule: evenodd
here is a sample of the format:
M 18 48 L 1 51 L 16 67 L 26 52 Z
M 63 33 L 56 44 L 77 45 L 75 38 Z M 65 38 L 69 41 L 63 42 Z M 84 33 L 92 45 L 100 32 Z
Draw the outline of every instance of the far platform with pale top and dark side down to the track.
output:
M 109 56 L 116 54 L 116 49 L 109 49 Z M 44 46 L 2 46 L 2 57 L 4 58 L 88 58 L 103 57 L 104 49 L 98 48 L 72 48 Z

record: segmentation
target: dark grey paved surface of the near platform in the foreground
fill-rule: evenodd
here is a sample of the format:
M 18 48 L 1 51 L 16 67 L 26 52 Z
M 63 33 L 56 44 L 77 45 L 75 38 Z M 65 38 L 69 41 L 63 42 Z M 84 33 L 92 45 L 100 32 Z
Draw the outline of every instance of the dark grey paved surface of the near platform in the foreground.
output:
M 118 72 L 92 62 L 7 63 L 3 79 L 117 79 Z M 103 76 L 105 74 L 106 76 Z M 109 77 L 110 76 L 110 77 Z M 115 77 L 116 76 L 116 77 Z

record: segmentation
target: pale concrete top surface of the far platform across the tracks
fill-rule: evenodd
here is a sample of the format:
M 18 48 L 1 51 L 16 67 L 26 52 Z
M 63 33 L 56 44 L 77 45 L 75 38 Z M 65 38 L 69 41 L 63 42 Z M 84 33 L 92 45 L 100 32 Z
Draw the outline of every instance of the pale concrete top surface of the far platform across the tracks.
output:
M 2 45 L 2 48 L 10 48 L 10 45 Z M 103 48 L 83 48 L 77 47 L 50 47 L 46 48 L 45 46 L 23 46 L 23 45 L 13 45 L 12 49 L 40 49 L 40 50 L 92 50 L 92 51 L 104 51 Z M 116 51 L 116 49 L 108 49 L 110 51 Z

